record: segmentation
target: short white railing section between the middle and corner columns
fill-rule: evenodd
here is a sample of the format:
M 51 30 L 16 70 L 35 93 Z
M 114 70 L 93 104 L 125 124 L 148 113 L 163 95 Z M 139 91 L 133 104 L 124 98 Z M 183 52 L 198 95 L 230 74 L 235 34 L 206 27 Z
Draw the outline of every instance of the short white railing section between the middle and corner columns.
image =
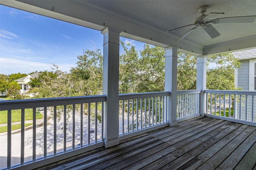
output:
M 177 120 L 199 116 L 199 95 L 201 90 L 177 91 Z

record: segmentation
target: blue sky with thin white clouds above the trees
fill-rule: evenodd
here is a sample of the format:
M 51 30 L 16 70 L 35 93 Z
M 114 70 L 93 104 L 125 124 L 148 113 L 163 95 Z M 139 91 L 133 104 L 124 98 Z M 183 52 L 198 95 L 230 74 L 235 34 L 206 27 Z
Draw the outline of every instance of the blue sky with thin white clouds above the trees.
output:
M 120 38 L 140 50 L 144 43 Z M 63 71 L 76 66 L 83 50 L 101 49 L 103 35 L 75 24 L 0 5 L 0 73 Z

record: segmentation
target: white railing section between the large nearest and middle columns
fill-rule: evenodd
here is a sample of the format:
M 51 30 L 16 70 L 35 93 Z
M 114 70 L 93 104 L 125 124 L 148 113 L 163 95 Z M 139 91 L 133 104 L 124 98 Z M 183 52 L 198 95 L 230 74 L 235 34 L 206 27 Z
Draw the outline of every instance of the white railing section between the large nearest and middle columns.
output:
M 119 95 L 119 136 L 166 124 L 170 92 Z

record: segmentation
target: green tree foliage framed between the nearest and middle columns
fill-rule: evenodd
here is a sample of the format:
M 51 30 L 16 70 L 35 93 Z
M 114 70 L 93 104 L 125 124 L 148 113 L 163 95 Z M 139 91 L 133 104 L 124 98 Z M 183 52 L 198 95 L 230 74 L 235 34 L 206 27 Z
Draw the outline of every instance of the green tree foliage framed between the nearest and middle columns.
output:
M 146 44 L 139 52 L 120 41 L 119 92 L 142 93 L 164 91 L 164 54 L 161 47 Z

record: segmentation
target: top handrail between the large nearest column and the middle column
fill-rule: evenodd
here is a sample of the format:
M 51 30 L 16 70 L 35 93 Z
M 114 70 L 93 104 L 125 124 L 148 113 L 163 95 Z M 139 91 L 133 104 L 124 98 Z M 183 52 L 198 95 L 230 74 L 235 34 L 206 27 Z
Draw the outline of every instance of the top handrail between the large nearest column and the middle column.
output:
M 170 91 L 160 91 L 160 92 L 149 92 L 149 93 L 127 93 L 119 94 L 119 100 L 128 100 L 128 99 L 141 99 L 147 97 L 159 97 L 159 96 L 169 96 L 171 95 Z

